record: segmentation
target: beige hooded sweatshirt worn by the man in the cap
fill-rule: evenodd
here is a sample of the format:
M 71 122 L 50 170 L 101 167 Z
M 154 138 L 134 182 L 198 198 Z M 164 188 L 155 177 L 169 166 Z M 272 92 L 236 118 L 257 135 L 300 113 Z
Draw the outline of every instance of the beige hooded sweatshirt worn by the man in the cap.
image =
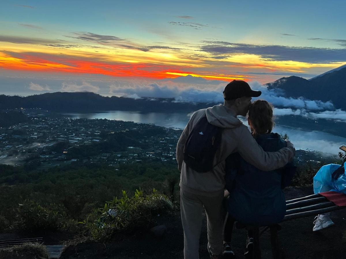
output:
M 207 116 L 208 122 L 224 128 L 221 146 L 218 149 L 213 169 L 199 173 L 186 166 L 184 146 L 189 133 L 200 118 Z M 295 155 L 294 148 L 285 147 L 277 152 L 264 152 L 257 144 L 248 128 L 237 119 L 235 112 L 220 104 L 195 112 L 181 134 L 176 147 L 176 160 L 181 171 L 180 188 L 196 194 L 217 194 L 225 188 L 225 159 L 238 152 L 245 161 L 263 171 L 278 169 L 287 164 Z

